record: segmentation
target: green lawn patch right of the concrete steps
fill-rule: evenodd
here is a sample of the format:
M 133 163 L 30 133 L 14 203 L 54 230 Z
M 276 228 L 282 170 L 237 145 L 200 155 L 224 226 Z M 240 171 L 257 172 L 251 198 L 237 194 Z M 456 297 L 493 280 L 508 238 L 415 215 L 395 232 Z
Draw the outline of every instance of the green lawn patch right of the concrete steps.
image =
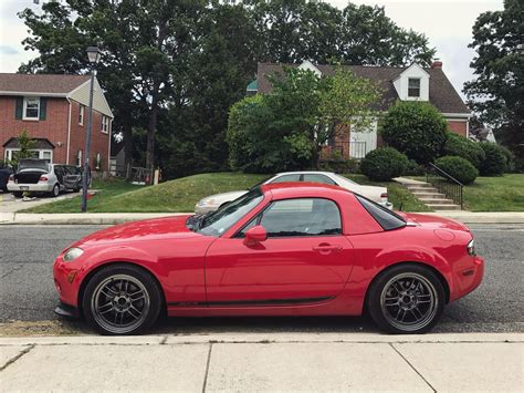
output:
M 524 174 L 478 177 L 463 193 L 471 211 L 524 211 Z

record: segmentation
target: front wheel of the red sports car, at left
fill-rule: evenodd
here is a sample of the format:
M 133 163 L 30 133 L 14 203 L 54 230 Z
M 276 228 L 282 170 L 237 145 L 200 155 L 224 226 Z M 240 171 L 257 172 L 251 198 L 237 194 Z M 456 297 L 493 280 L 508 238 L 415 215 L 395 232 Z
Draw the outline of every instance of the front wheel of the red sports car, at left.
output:
M 126 279 L 130 283 L 123 290 L 122 280 Z M 133 291 L 138 290 L 144 292 L 144 299 L 133 300 Z M 126 299 L 126 304 L 120 303 L 122 299 Z M 111 308 L 99 306 L 103 302 L 111 302 Z M 106 335 L 142 333 L 157 321 L 161 308 L 163 296 L 155 278 L 139 267 L 124 263 L 109 265 L 97 271 L 87 282 L 82 299 L 85 319 L 96 331 Z M 132 313 L 130 310 L 136 311 Z M 138 318 L 136 313 L 139 313 Z M 118 323 L 119 318 L 122 323 Z

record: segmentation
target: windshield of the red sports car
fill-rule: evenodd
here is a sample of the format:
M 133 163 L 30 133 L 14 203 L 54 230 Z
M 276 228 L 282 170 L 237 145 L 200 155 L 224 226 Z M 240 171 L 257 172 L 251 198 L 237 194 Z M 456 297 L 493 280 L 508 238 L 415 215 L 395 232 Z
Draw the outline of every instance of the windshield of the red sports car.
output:
M 248 194 L 242 195 L 217 211 L 202 216 L 197 231 L 202 235 L 220 236 L 259 205 L 263 198 L 264 195 L 260 187 L 252 188 Z

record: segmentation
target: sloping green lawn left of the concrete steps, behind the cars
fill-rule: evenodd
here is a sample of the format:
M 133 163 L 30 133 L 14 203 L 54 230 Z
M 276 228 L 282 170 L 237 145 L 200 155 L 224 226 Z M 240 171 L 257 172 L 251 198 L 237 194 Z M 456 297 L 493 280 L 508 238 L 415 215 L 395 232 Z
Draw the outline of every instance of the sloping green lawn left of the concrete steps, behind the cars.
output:
M 405 211 L 429 211 L 402 186 L 392 183 L 374 183 L 364 175 L 345 175 L 366 185 L 381 185 L 388 188 L 389 200 L 395 208 L 402 204 Z M 140 187 L 119 179 L 95 182 L 99 192 L 88 201 L 91 213 L 164 213 L 193 211 L 195 204 L 202 197 L 230 190 L 248 189 L 269 175 L 240 173 L 212 173 L 188 176 L 163 183 L 158 186 Z M 60 200 L 28 209 L 30 213 L 78 213 L 80 197 Z

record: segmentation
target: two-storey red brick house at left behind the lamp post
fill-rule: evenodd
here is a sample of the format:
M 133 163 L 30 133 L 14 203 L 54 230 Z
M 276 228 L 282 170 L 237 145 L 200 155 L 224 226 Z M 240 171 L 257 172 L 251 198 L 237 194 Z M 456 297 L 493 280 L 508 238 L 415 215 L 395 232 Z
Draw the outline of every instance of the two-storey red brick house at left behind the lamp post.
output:
M 90 76 L 0 73 L 0 145 L 3 159 L 19 151 L 25 130 L 34 157 L 57 164 L 83 163 L 87 130 Z M 98 81 L 93 94 L 90 165 L 107 170 L 113 113 Z

